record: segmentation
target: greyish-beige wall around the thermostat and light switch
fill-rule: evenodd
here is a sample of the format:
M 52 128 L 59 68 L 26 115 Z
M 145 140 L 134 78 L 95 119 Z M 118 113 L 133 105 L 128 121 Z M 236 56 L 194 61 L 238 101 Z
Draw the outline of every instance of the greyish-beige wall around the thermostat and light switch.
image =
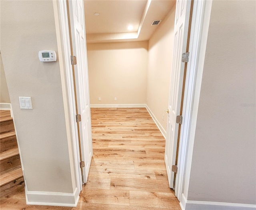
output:
M 1 54 L 28 191 L 73 193 L 52 1 L 1 1 Z M 58 53 L 57 53 L 58 56 Z M 32 97 L 21 110 L 19 96 Z

